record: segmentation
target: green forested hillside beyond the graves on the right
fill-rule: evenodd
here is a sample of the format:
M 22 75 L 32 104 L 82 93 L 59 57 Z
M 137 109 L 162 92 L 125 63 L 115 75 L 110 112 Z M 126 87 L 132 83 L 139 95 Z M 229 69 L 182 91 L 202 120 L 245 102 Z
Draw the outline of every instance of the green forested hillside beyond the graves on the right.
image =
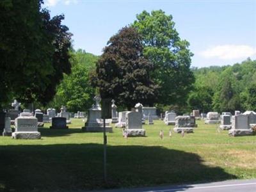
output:
M 195 88 L 190 109 L 207 111 L 256 110 L 256 60 L 225 67 L 193 68 Z

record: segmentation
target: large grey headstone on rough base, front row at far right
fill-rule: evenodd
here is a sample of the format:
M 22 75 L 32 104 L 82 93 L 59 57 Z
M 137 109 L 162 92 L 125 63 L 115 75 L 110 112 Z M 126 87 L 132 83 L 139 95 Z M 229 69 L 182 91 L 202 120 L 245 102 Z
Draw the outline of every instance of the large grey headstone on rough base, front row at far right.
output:
M 230 136 L 247 136 L 252 135 L 253 131 L 250 129 L 248 115 L 235 115 L 232 121 L 232 128 L 228 131 Z

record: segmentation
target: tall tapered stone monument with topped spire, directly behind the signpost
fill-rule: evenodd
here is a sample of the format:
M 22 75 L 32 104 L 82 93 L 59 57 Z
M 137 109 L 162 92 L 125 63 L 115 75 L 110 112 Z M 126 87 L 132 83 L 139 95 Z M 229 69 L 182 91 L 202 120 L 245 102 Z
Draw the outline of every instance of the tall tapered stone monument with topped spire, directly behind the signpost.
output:
M 84 127 L 82 127 L 83 131 L 86 132 L 103 132 L 103 122 L 101 119 L 101 108 L 100 108 L 100 97 L 94 97 L 95 104 L 92 105 L 92 108 L 88 111 L 87 122 Z M 112 127 L 106 124 L 106 132 L 113 132 Z

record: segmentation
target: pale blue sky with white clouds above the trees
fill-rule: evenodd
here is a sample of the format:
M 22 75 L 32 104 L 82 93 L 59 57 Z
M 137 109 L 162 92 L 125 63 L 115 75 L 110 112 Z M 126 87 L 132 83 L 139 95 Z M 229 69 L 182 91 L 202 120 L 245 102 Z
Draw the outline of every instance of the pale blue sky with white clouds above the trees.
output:
M 65 15 L 74 49 L 96 55 L 137 14 L 161 9 L 189 42 L 192 67 L 256 59 L 256 0 L 44 0 L 44 8 Z

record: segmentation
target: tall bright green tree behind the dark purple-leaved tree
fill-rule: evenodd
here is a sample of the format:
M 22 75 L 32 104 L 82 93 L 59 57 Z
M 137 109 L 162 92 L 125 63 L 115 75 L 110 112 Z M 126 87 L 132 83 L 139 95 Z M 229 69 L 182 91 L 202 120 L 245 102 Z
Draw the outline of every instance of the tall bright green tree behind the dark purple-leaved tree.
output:
M 145 58 L 154 64 L 150 77 L 161 87 L 158 103 L 185 104 L 195 78 L 190 70 L 189 43 L 181 40 L 172 15 L 143 11 L 132 24 L 143 38 Z

